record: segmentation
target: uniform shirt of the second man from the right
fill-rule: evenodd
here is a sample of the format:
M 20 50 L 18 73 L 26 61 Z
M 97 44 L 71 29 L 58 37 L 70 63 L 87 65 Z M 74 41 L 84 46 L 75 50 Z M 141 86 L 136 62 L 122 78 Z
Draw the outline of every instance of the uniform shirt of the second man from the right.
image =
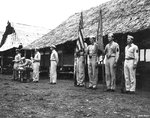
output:
M 107 58 L 115 57 L 115 61 L 118 61 L 119 58 L 119 45 L 116 42 L 112 42 L 106 45 L 105 54 Z

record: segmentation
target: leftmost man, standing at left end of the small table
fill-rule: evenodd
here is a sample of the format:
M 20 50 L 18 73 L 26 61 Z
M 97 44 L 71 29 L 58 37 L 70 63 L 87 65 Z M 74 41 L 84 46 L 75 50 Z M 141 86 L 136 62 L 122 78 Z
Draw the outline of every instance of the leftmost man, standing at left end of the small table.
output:
M 18 67 L 19 67 L 20 61 L 21 61 L 21 54 L 19 52 L 19 49 L 16 49 L 15 59 L 13 60 L 13 62 L 14 62 L 14 66 L 13 66 L 13 80 L 17 80 L 18 77 L 19 77 Z

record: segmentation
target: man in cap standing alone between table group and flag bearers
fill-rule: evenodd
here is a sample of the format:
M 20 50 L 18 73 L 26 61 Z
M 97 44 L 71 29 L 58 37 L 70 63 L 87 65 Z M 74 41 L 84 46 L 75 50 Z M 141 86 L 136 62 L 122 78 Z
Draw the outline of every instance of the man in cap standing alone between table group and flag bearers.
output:
M 50 47 L 51 56 L 50 56 L 50 84 L 56 84 L 57 82 L 57 64 L 58 64 L 58 53 L 56 52 L 56 46 L 52 45 Z

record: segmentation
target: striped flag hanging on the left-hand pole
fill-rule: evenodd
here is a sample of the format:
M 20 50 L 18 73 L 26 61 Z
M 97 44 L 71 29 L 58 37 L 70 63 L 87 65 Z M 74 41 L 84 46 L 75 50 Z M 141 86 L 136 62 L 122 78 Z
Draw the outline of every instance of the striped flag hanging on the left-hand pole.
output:
M 83 14 L 81 12 L 80 21 L 79 21 L 79 29 L 78 29 L 78 39 L 77 39 L 77 51 L 85 48 L 84 45 L 84 37 L 83 37 Z

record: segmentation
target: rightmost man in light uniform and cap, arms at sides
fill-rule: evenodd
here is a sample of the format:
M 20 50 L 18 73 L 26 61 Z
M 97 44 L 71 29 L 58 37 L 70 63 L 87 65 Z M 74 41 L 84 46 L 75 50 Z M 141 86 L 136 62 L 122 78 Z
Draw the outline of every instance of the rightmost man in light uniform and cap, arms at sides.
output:
M 125 47 L 124 76 L 126 93 L 135 93 L 136 88 L 136 67 L 139 59 L 138 47 L 133 44 L 133 36 L 127 36 Z

